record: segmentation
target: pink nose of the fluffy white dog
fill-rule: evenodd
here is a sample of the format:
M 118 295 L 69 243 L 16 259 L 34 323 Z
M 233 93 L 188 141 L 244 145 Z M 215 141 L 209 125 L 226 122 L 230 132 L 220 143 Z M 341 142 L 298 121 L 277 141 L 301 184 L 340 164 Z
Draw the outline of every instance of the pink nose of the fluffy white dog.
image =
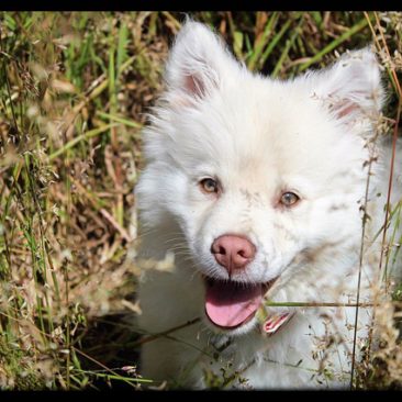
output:
M 212 243 L 211 252 L 231 276 L 235 269 L 245 268 L 254 259 L 256 247 L 244 237 L 223 235 Z

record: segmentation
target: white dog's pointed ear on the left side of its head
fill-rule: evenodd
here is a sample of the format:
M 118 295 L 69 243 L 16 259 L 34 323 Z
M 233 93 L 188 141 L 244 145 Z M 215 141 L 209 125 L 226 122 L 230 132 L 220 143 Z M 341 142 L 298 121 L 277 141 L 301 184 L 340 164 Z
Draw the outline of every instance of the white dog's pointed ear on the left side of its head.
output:
M 165 78 L 168 89 L 179 92 L 180 98 L 202 99 L 238 68 L 219 36 L 205 25 L 188 20 L 176 37 Z

